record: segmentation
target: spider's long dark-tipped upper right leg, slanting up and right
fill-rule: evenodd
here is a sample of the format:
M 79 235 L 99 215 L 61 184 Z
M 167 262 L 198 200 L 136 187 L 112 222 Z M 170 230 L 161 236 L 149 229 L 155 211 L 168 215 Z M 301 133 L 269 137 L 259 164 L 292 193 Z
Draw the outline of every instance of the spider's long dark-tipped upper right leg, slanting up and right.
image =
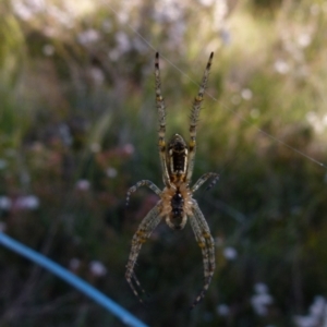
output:
M 199 89 L 197 93 L 197 96 L 194 99 L 193 107 L 191 110 L 191 118 L 190 118 L 190 144 L 189 144 L 189 164 L 187 164 L 187 174 L 186 174 L 186 182 L 190 183 L 192 173 L 193 173 L 193 167 L 194 167 L 194 158 L 196 153 L 196 124 L 198 120 L 198 114 L 201 110 L 201 105 L 203 101 L 204 93 L 206 89 L 206 85 L 209 77 L 209 71 L 211 66 L 211 61 L 214 58 L 214 52 L 211 52 L 207 66 L 205 69 Z

